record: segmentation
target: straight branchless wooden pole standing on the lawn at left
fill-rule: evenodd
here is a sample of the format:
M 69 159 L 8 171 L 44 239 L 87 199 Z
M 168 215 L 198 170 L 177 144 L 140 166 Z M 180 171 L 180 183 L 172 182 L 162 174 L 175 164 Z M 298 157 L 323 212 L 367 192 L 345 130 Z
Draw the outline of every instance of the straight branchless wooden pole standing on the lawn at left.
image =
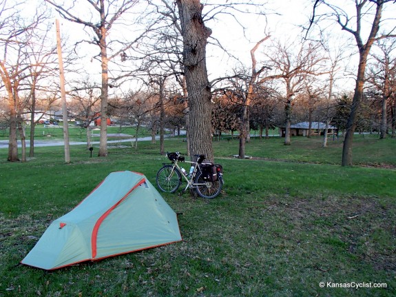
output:
M 69 122 L 67 121 L 65 74 L 63 72 L 61 30 L 59 29 L 59 20 L 58 19 L 56 19 L 56 45 L 57 45 L 56 48 L 58 50 L 59 78 L 61 79 L 61 99 L 62 99 L 62 112 L 63 112 L 63 141 L 65 142 L 65 163 L 70 163 Z

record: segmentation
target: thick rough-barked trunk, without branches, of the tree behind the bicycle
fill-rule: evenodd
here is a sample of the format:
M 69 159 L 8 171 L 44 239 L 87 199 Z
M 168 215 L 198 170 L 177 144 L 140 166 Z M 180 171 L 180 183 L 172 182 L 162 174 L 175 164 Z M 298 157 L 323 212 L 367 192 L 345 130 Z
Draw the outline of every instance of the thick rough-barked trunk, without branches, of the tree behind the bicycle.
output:
M 202 20 L 199 0 L 176 0 L 183 35 L 183 65 L 189 105 L 189 155 L 213 161 L 211 86 L 207 78 L 206 45 L 211 30 Z

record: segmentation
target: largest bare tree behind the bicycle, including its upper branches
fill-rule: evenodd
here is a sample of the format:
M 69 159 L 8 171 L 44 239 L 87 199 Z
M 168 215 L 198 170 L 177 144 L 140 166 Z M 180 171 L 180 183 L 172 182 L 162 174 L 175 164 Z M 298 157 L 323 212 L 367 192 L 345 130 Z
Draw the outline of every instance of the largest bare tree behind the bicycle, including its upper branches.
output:
M 211 36 L 211 30 L 205 26 L 205 23 L 213 19 L 220 19 L 219 16 L 222 15 L 233 19 L 245 30 L 246 28 L 243 28 L 242 21 L 238 19 L 237 14 L 247 13 L 247 10 L 251 10 L 251 8 L 256 12 L 263 3 L 258 5 L 252 1 L 233 1 L 232 3 L 218 4 L 202 1 L 203 4 L 201 4 L 199 0 L 175 1 L 178 8 L 176 12 L 176 8 L 171 2 L 161 0 L 160 6 L 158 2 L 149 1 L 156 6 L 156 10 L 167 20 L 169 25 L 174 26 L 174 32 L 183 37 L 183 40 L 180 40 L 177 35 L 170 35 L 166 32 L 163 37 L 165 42 L 169 41 L 169 37 L 175 42 L 173 48 L 163 48 L 162 52 L 174 52 L 174 57 L 178 57 L 183 65 L 184 75 L 177 76 L 177 79 L 188 103 L 185 121 L 189 155 L 203 152 L 208 158 L 212 158 L 213 149 L 209 125 L 212 105 L 211 87 L 213 81 L 218 80 L 214 79 L 211 83 L 208 81 L 205 65 L 206 46 L 208 43 L 215 44 L 220 48 L 222 46 L 218 39 Z M 202 13 L 204 7 L 206 8 L 205 14 Z M 183 51 L 178 50 L 180 45 L 183 46 Z M 183 52 L 183 61 L 180 59 L 180 54 L 176 54 L 175 49 L 176 52 Z M 222 49 L 224 50 L 224 48 Z

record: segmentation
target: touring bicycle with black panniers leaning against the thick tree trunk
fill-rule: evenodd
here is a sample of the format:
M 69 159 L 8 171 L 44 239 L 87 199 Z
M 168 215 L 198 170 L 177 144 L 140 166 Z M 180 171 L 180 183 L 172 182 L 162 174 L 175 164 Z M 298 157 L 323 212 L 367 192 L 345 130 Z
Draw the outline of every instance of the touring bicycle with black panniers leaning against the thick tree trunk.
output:
M 185 161 L 185 157 L 179 152 L 166 154 L 171 164 L 163 163 L 163 167 L 158 170 L 156 182 L 161 191 L 174 193 L 180 187 L 183 179 L 187 181 L 187 189 L 194 189 L 202 198 L 212 199 L 218 196 L 222 190 L 224 180 L 222 178 L 222 166 L 220 164 L 202 163 L 205 155 L 195 155 L 196 161 Z M 191 164 L 190 171 L 179 165 L 179 162 Z

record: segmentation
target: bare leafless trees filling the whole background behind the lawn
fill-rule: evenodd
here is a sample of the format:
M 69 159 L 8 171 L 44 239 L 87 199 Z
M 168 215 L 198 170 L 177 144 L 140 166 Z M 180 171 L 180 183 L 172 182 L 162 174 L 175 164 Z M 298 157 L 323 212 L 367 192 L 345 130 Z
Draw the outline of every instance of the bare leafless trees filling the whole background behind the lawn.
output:
M 251 127 L 268 136 L 271 127 L 283 125 L 284 144 L 291 145 L 291 124 L 300 120 L 317 119 L 345 131 L 342 165 L 352 165 L 355 131 L 378 130 L 383 139 L 391 130 L 395 136 L 395 23 L 382 16 L 394 1 L 351 0 L 352 10 L 312 1 L 311 19 L 293 41 L 273 37 L 264 21 L 265 3 L 254 1 L 203 5 L 198 0 L 45 0 L 28 16 L 26 2 L 0 4 L 1 110 L 10 128 L 9 161 L 19 160 L 17 139 L 25 139 L 23 114 L 30 114 L 33 123 L 38 107 L 45 110 L 59 101 L 52 9 L 84 32 L 74 42 L 63 40 L 70 77 L 68 109 L 84 119 L 87 131 L 90 121 L 101 117 L 98 156 L 107 156 L 110 115 L 133 119 L 137 127 L 151 125 L 153 135 L 160 134 L 161 153 L 165 126 L 185 127 L 189 155 L 203 153 L 209 160 L 213 134 L 238 131 L 239 157 L 244 158 Z M 243 27 L 247 14 L 261 16 L 264 29 L 250 50 L 250 63 L 235 59 L 227 73 L 209 80 L 208 44 L 233 57 L 213 37 L 216 28 L 207 25 L 231 15 Z M 365 26 L 369 23 L 368 35 L 362 32 L 363 20 Z M 380 30 L 379 23 L 385 21 L 388 27 Z M 322 29 L 334 23 L 342 29 L 339 34 L 355 39 L 359 61 L 353 67 L 353 91 L 338 83 L 351 69 L 346 63 L 353 59 L 351 49 L 326 42 Z M 98 61 L 97 79 L 76 63 L 83 56 Z

